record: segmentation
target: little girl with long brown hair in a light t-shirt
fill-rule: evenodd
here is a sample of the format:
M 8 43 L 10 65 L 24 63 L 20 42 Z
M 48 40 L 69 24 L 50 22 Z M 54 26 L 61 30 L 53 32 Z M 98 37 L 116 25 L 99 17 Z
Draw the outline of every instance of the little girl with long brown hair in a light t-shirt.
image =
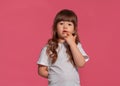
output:
M 42 48 L 38 74 L 48 79 L 48 86 L 80 86 L 78 67 L 89 60 L 77 33 L 77 16 L 63 9 L 53 22 L 52 38 Z

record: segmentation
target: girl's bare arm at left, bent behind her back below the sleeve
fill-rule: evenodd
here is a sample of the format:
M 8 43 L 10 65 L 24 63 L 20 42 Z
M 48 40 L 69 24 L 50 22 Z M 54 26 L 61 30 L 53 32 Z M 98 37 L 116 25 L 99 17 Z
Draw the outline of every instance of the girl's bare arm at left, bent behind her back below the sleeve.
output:
M 38 74 L 44 78 L 48 78 L 48 67 L 43 65 L 38 65 Z

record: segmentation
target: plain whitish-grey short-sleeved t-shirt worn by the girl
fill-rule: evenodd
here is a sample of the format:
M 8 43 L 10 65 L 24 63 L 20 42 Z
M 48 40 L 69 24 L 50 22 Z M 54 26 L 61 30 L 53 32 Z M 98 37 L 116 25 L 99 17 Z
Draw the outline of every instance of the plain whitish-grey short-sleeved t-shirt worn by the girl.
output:
M 80 42 L 77 47 L 87 62 L 89 56 L 82 48 Z M 46 49 L 47 45 L 43 47 L 37 64 L 48 66 L 48 86 L 80 86 L 78 70 L 68 60 L 69 58 L 64 43 L 58 43 L 58 58 L 54 64 L 51 64 L 51 61 L 46 54 Z

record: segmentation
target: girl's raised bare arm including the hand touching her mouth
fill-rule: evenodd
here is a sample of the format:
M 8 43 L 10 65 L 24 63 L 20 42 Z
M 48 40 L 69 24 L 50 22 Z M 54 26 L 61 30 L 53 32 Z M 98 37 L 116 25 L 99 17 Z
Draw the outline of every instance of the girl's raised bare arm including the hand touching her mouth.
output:
M 70 50 L 76 66 L 83 67 L 86 61 L 82 53 L 80 52 L 79 48 L 77 47 L 77 44 L 75 43 L 76 35 L 73 36 L 70 32 L 68 32 L 67 36 L 64 39 L 70 46 Z

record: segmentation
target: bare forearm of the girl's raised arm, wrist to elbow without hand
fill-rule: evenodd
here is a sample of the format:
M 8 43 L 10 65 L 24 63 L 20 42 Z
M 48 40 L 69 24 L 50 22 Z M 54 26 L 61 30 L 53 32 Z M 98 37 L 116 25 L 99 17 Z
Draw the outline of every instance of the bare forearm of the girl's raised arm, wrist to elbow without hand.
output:
M 70 44 L 70 49 L 71 49 L 73 59 L 74 59 L 76 66 L 83 67 L 85 65 L 85 58 L 83 57 L 83 55 L 79 51 L 76 43 Z

